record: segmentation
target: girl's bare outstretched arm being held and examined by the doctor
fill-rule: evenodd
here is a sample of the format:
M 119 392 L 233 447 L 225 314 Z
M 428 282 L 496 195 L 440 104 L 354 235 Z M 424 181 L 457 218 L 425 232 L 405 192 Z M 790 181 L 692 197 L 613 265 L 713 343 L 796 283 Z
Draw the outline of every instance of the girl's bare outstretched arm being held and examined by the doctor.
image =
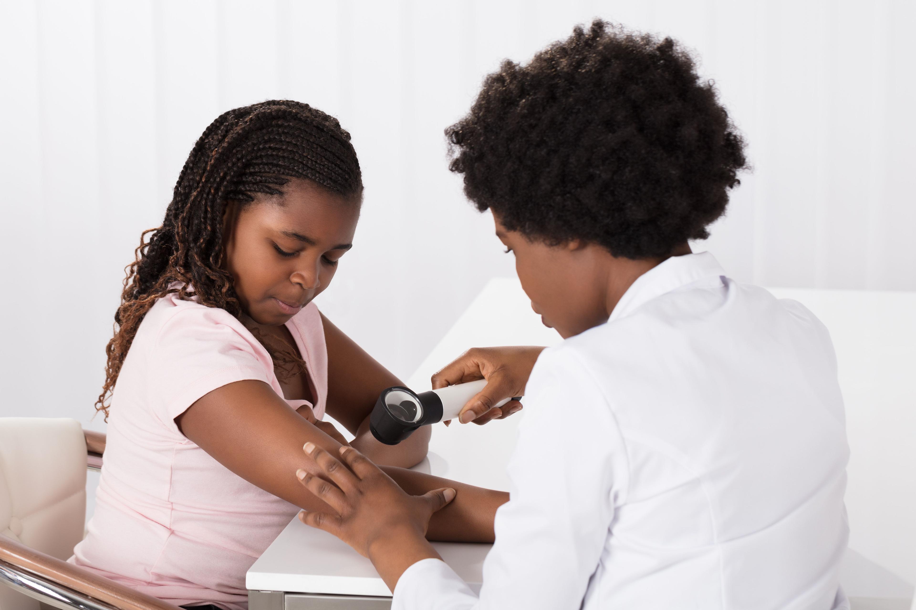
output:
M 322 500 L 300 486 L 295 473 L 320 474 L 302 453 L 308 442 L 336 453 L 341 444 L 289 408 L 263 381 L 244 380 L 217 388 L 176 418 L 181 433 L 220 464 L 249 483 L 306 510 L 328 510 Z M 496 508 L 508 494 L 395 466 L 385 472 L 411 494 L 453 487 L 462 499 L 431 519 L 432 540 L 494 540 Z M 443 485 L 443 481 L 447 485 Z

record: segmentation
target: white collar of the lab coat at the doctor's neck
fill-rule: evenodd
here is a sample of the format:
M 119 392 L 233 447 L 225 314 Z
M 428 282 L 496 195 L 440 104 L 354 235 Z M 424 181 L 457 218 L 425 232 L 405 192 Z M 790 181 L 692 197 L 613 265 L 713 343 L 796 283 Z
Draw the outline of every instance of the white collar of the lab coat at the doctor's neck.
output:
M 640 275 L 620 297 L 607 321 L 628 316 L 662 294 L 715 276 L 725 277 L 725 270 L 709 252 L 672 256 Z

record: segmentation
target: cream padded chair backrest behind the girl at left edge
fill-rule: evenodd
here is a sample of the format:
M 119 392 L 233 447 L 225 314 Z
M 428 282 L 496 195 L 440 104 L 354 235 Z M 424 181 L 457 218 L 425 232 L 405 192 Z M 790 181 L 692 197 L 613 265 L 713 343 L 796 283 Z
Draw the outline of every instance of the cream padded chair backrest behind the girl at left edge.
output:
M 0 535 L 66 560 L 82 540 L 85 511 L 80 423 L 0 418 Z M 38 602 L 0 586 L 0 610 L 38 610 Z

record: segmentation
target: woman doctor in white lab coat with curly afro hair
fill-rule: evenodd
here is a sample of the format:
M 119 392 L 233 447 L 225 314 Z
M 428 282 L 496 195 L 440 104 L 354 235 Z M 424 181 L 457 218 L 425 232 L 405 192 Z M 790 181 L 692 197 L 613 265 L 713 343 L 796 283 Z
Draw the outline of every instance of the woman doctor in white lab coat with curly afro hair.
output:
M 454 490 L 409 496 L 352 448 L 306 444 L 323 476 L 297 474 L 333 513 L 301 519 L 367 556 L 394 608 L 847 607 L 834 350 L 802 305 L 691 253 L 746 164 L 690 56 L 596 21 L 504 63 L 448 134 L 565 339 L 478 350 L 438 380 L 483 375 L 490 400 L 527 384 L 483 587 L 424 537 Z

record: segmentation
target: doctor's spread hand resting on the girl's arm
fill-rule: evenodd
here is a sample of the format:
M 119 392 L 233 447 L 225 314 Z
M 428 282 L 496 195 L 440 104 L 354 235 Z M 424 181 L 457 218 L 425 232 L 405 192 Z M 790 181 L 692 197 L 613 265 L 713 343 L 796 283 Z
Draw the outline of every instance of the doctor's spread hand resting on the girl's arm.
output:
M 432 513 L 453 500 L 454 489 L 410 496 L 353 447 L 341 447 L 340 459 L 313 443 L 303 450 L 320 476 L 300 469 L 297 478 L 333 508 L 333 513 L 303 510 L 303 523 L 332 533 L 368 557 L 392 591 L 415 562 L 442 559 L 426 540 L 426 530 Z

